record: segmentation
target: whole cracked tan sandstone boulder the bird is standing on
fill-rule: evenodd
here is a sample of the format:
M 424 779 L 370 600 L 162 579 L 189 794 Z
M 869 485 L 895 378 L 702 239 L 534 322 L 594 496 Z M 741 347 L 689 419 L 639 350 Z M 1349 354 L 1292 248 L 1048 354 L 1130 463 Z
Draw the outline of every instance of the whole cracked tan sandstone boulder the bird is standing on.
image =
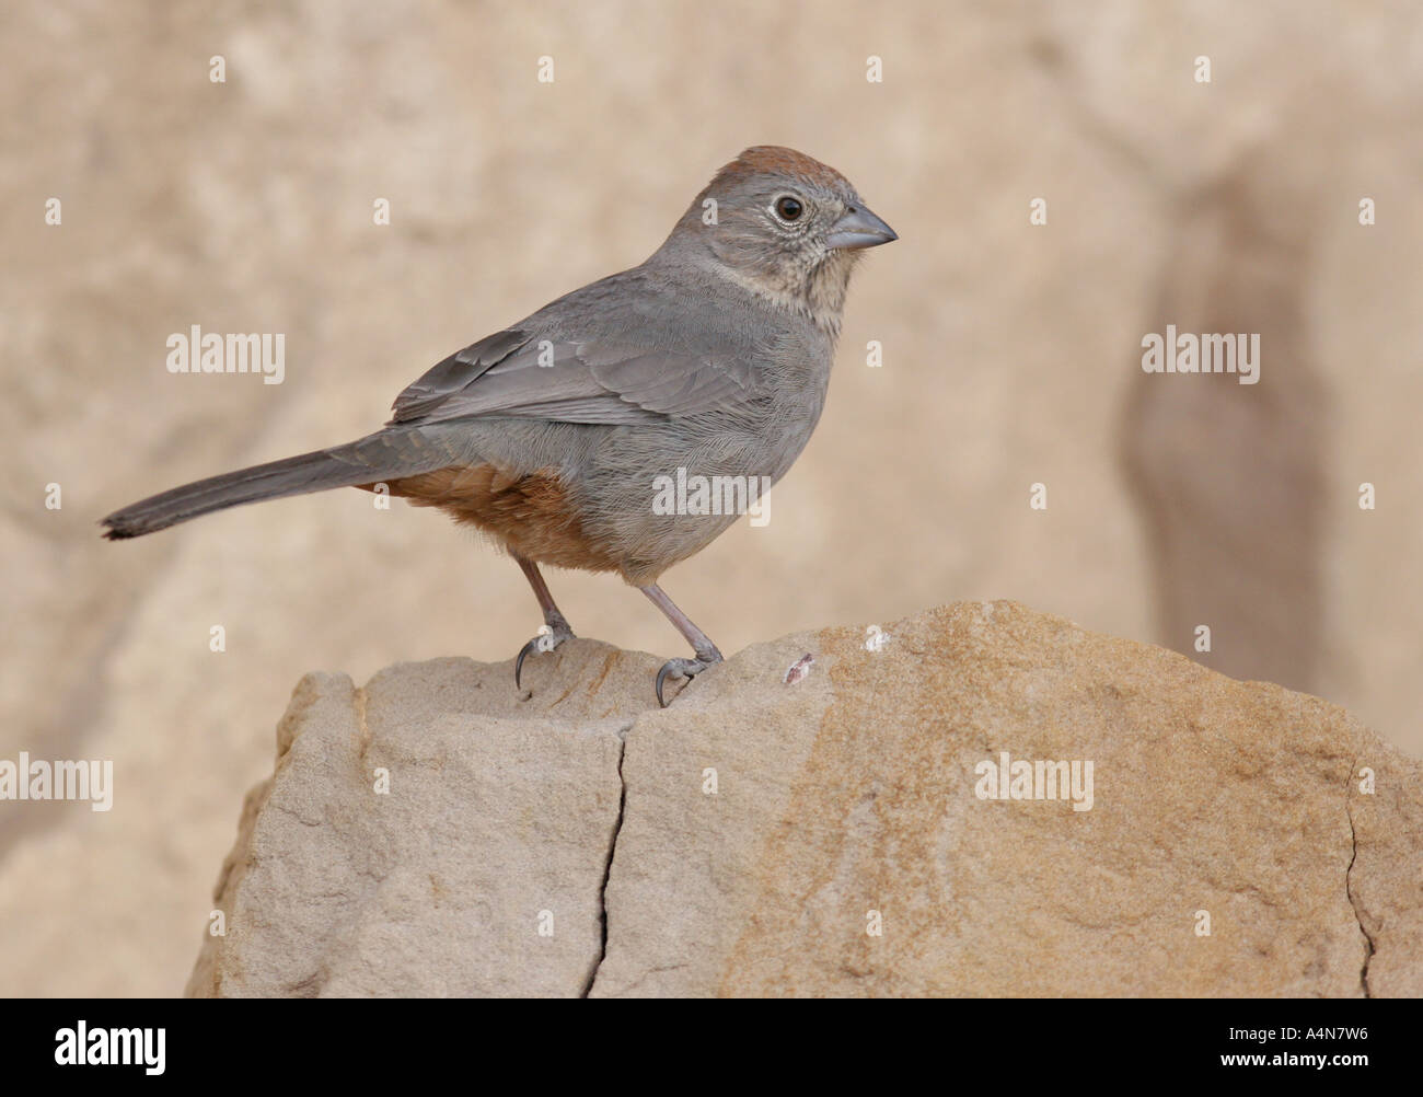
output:
M 188 993 L 1423 995 L 1423 764 L 1322 700 L 1012 602 L 656 667 L 307 674 Z

